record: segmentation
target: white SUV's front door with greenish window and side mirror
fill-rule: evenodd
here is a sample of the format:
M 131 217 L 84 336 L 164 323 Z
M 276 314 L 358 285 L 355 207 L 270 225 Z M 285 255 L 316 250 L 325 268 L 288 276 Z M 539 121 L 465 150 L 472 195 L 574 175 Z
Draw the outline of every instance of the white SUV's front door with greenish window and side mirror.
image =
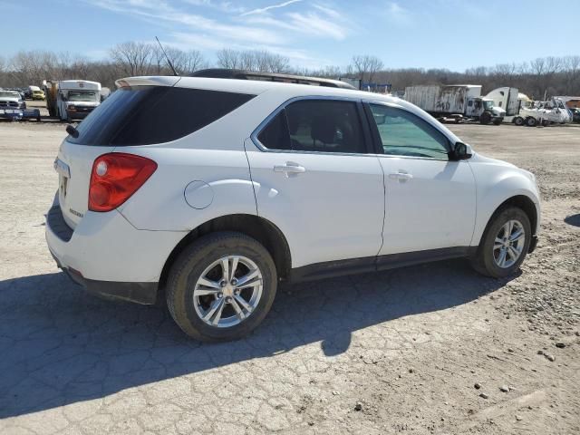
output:
M 385 174 L 380 255 L 469 247 L 476 187 L 468 160 L 449 160 L 447 136 L 401 106 L 371 102 L 366 112 Z

